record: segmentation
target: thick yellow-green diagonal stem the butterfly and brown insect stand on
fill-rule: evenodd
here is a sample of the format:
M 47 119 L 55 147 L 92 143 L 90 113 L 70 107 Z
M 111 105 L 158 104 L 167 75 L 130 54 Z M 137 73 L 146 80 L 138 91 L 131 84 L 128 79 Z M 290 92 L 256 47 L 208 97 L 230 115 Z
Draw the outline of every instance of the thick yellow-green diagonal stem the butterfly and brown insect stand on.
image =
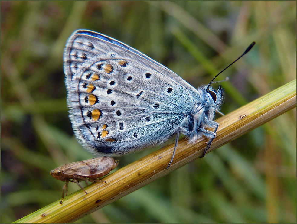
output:
M 296 79 L 219 118 L 217 137 L 207 153 L 295 107 Z M 174 144 L 165 146 L 108 175 L 103 179 L 106 181 L 105 184 L 91 184 L 85 188 L 87 195 L 82 190 L 78 190 L 65 197 L 62 205 L 59 199 L 15 223 L 74 222 L 201 157 L 206 143 L 206 138 L 198 140 L 194 145 L 188 144 L 185 138 L 181 139 L 178 142 L 173 163 L 168 170 L 166 167 L 171 159 Z

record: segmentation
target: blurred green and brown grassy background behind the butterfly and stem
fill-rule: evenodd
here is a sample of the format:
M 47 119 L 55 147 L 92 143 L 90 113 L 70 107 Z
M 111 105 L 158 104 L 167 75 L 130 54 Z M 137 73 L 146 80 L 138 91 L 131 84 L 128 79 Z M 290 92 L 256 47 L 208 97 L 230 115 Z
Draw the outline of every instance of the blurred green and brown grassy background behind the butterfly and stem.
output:
M 256 41 L 219 78 L 230 77 L 225 114 L 296 78 L 296 1 L 1 1 L 2 223 L 60 200 L 50 170 L 94 157 L 68 119 L 62 57 L 75 29 L 122 41 L 194 87 Z M 100 222 L 296 223 L 296 108 L 76 223 Z

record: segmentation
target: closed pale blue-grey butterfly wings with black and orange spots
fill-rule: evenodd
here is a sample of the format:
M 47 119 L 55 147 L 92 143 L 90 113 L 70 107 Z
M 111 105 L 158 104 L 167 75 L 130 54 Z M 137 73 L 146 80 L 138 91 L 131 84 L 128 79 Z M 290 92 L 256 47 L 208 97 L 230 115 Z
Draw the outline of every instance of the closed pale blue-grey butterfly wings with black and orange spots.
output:
M 99 154 L 121 155 L 166 141 L 199 97 L 168 68 L 88 30 L 68 39 L 64 72 L 76 138 Z

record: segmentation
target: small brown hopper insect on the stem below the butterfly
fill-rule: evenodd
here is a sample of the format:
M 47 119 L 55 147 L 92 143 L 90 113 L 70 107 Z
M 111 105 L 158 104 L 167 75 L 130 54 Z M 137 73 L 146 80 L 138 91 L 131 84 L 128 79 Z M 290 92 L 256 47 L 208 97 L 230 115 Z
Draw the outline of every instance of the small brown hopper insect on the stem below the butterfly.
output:
M 77 185 L 80 186 L 80 188 L 87 194 L 86 190 L 80 185 L 80 181 L 86 181 L 87 185 L 87 181 L 90 181 L 92 183 L 105 183 L 104 180 L 100 180 L 97 178 L 109 174 L 109 172 L 116 168 L 118 164 L 119 161 L 115 161 L 111 157 L 103 156 L 99 158 L 87 159 L 83 161 L 65 164 L 52 170 L 51 175 L 54 178 L 66 182 L 63 187 L 62 199 L 60 201 L 60 204 L 62 204 L 62 201 L 64 199 L 65 190 L 65 196 L 67 196 L 69 181 L 77 183 Z

